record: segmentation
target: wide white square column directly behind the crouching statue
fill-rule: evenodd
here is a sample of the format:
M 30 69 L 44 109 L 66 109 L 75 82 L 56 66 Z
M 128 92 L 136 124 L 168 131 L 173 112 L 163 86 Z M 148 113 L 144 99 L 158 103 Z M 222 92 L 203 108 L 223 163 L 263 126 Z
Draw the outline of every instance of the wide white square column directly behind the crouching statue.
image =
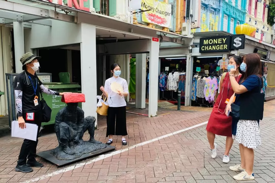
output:
M 95 26 L 81 24 L 81 90 L 86 102 L 82 103 L 84 116 L 94 116 L 97 126 L 97 53 Z

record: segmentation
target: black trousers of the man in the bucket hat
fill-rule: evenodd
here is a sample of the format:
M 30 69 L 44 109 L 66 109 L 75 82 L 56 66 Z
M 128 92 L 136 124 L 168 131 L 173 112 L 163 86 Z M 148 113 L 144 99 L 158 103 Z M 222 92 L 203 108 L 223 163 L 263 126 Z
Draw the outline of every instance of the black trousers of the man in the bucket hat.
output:
M 40 126 L 42 121 L 42 113 L 41 111 L 35 112 L 33 121 L 26 120 L 26 113 L 23 113 L 23 119 L 25 120 L 26 123 L 32 123 L 32 124 L 38 125 L 38 130 L 36 134 L 37 140 L 33 141 L 33 140 L 24 139 L 23 144 L 21 146 L 18 161 L 17 161 L 18 165 L 26 164 L 27 159 L 29 159 L 29 161 L 35 161 L 36 147 L 38 143 L 38 134 L 40 131 Z

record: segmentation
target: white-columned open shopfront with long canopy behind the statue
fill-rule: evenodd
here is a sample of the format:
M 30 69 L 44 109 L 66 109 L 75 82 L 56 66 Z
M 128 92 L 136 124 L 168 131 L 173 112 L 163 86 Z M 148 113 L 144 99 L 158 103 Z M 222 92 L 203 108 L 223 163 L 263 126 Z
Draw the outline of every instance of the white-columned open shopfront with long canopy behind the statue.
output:
M 145 54 L 146 58 L 146 54 L 149 54 L 148 116 L 157 115 L 158 95 L 156 93 L 158 93 L 158 82 L 156 81 L 158 81 L 159 72 L 155 68 L 159 66 L 159 36 L 162 30 L 149 29 L 117 21 L 103 15 L 83 12 L 83 10 L 74 8 L 70 9 L 69 7 L 65 7 L 65 9 L 70 9 L 73 15 L 63 14 L 61 13 L 62 6 L 54 9 L 42 2 L 37 4 L 34 2 L 32 6 L 27 5 L 28 1 L 20 2 L 22 4 L 9 1 L 3 2 L 4 4 L 1 1 L 0 9 L 1 11 L 4 10 L 5 15 L 9 13 L 16 18 L 15 12 L 17 12 L 25 17 L 37 18 L 37 21 L 34 19 L 33 23 L 27 22 L 25 24 L 24 20 L 12 20 L 10 23 L 14 33 L 14 43 L 12 44 L 17 45 L 14 48 L 15 64 L 13 72 L 22 71 L 18 62 L 24 52 L 33 52 L 42 56 L 44 65 L 41 61 L 41 72 L 52 73 L 51 71 L 57 68 L 60 72 L 68 72 L 70 74 L 68 81 L 79 83 L 81 92 L 86 94 L 86 102 L 82 105 L 85 115 L 97 116 L 95 113 L 96 96 L 100 94 L 98 91 L 99 86 L 104 85 L 104 81 L 109 77 L 110 64 L 117 63 L 120 60 L 123 63 L 120 64 L 123 67 L 122 75 L 129 81 L 129 78 L 127 78 L 129 75 L 129 69 L 127 68 L 130 62 L 129 54 L 140 55 L 141 62 L 137 62 L 137 71 L 140 71 L 137 72 L 139 78 L 137 82 L 141 86 L 138 88 L 144 88 L 146 83 L 142 77 L 146 60 L 144 61 L 143 55 Z M 43 8 L 41 8 L 42 4 Z M 39 8 L 35 7 L 40 5 Z M 28 10 L 28 12 L 25 10 Z M 41 15 L 40 12 L 46 13 Z M 4 15 L 4 13 L 1 15 Z M 108 28 L 106 25 L 108 25 Z M 129 30 L 132 31 L 129 32 Z M 169 37 L 170 34 L 174 34 L 174 37 Z M 184 36 L 175 35 L 175 33 L 166 32 L 165 35 L 161 36 L 161 40 L 184 42 Z M 57 56 L 50 57 L 51 55 Z M 117 59 L 117 56 L 114 55 L 122 56 L 121 59 Z M 60 79 L 57 72 L 53 72 L 52 77 L 53 82 L 58 82 Z M 137 94 L 142 97 L 145 96 L 145 89 L 144 92 L 137 91 Z M 145 100 L 142 103 L 145 104 Z

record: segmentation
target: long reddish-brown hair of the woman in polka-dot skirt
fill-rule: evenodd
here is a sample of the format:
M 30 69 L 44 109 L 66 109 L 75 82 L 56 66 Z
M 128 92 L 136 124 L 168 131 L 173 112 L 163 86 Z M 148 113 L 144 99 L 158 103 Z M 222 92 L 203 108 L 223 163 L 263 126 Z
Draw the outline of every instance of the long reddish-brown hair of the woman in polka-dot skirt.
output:
M 247 54 L 243 57 L 243 61 L 246 63 L 246 72 L 242 75 L 242 82 L 251 75 L 257 75 L 261 78 L 263 86 L 262 63 L 260 56 L 255 53 Z

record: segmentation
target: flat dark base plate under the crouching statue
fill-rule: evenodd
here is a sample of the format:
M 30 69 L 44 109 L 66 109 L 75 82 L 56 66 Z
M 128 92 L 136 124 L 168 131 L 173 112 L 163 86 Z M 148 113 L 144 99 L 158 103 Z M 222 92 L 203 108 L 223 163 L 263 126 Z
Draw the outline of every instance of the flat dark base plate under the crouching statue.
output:
M 88 154 L 83 154 L 81 157 L 77 157 L 77 158 L 71 159 L 71 160 L 56 159 L 56 157 L 52 154 L 53 150 L 55 150 L 56 148 L 36 153 L 36 155 L 39 156 L 39 157 L 42 157 L 43 159 L 45 159 L 45 160 L 47 160 L 47 161 L 49 161 L 49 162 L 51 162 L 51 163 L 53 163 L 53 164 L 55 164 L 59 167 L 59 166 L 64 166 L 64 165 L 67 165 L 67 164 L 70 164 L 70 163 L 73 163 L 73 162 L 76 162 L 76 161 L 80 161 L 80 160 L 83 160 L 83 159 L 88 159 L 92 156 L 103 154 L 103 153 L 106 153 L 108 151 L 115 150 L 115 147 L 113 147 L 113 146 L 110 146 L 110 145 L 106 145 L 106 146 L 107 147 L 104 148 L 104 149 L 93 151 L 93 152 L 88 153 Z

